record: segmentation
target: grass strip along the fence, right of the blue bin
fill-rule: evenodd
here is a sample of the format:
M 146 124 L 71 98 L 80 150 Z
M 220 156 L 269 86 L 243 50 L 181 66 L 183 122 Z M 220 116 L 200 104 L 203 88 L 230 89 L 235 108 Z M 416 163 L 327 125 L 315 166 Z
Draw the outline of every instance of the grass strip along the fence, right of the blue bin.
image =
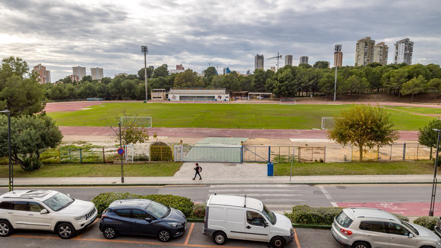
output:
M 398 162 L 350 162 L 350 163 L 295 163 L 293 175 L 416 175 L 432 174 L 433 161 L 398 161 Z M 274 165 L 276 176 L 289 176 L 291 164 Z

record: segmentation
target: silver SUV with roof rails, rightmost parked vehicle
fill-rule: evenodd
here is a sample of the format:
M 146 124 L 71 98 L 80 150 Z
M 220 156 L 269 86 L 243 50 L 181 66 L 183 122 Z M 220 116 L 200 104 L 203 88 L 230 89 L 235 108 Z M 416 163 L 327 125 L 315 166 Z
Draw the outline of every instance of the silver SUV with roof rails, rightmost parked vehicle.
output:
M 441 238 L 420 225 L 374 208 L 345 208 L 334 218 L 334 238 L 356 248 L 441 247 Z

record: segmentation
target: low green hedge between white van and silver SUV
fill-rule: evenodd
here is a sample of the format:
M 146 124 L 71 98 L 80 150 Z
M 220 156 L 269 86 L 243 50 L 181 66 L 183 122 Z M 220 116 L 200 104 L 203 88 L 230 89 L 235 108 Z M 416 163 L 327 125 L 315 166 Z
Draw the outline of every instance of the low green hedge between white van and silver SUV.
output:
M 294 206 L 292 212 L 285 213 L 291 222 L 297 224 L 331 225 L 341 207 L 311 207 L 308 205 Z

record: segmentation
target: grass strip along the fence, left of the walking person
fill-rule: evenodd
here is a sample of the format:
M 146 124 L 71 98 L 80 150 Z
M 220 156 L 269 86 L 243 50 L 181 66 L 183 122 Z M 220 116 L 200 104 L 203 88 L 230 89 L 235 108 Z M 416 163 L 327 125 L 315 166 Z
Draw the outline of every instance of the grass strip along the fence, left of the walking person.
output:
M 173 176 L 181 162 L 124 164 L 125 176 Z M 8 165 L 0 165 L 0 177 L 8 177 Z M 14 177 L 117 177 L 121 176 L 120 164 L 45 164 L 33 172 L 14 165 Z

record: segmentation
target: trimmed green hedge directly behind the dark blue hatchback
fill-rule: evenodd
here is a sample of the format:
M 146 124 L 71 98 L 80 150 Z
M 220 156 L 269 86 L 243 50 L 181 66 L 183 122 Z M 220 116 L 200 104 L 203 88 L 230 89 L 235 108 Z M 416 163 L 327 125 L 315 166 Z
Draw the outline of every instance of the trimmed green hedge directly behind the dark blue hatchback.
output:
M 193 211 L 193 202 L 187 198 L 171 194 L 151 194 L 139 195 L 131 193 L 107 192 L 101 193 L 93 198 L 98 213 L 101 214 L 115 200 L 123 199 L 149 199 L 159 202 L 163 205 L 180 210 L 185 216 L 190 216 Z

